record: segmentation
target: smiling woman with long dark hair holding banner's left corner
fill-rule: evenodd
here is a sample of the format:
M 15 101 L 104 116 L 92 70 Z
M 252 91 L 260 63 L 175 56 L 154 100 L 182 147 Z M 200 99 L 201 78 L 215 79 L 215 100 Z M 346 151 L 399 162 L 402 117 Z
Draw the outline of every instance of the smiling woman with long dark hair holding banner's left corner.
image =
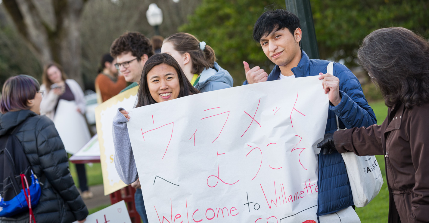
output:
M 197 94 L 186 78 L 178 62 L 169 54 L 155 54 L 145 63 L 140 78 L 139 90 L 135 107 L 142 107 L 187 95 Z M 113 143 L 115 145 L 115 168 L 119 177 L 126 184 L 136 188 L 136 209 L 144 223 L 147 223 L 145 204 L 142 191 L 139 188 L 136 162 L 128 135 L 127 122 L 130 120 L 128 112 L 119 108 L 113 120 Z

